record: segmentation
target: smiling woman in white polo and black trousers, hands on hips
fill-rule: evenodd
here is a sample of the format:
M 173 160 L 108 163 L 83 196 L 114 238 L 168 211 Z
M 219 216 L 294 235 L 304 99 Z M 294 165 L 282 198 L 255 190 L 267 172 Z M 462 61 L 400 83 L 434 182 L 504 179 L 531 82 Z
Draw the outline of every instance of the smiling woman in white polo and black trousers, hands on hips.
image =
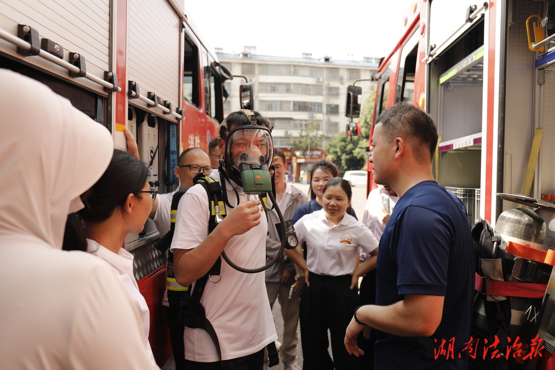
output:
M 378 241 L 372 232 L 349 214 L 351 186 L 341 178 L 331 179 L 324 188 L 323 209 L 302 216 L 295 223 L 301 242 L 306 242 L 306 261 L 302 251 L 286 251 L 287 256 L 309 274 L 300 302 L 301 344 L 304 370 L 354 369 L 358 359 L 347 353 L 343 340 L 352 313 L 358 305 L 351 275 L 358 249 L 376 259 Z M 327 330 L 331 334 L 330 358 Z

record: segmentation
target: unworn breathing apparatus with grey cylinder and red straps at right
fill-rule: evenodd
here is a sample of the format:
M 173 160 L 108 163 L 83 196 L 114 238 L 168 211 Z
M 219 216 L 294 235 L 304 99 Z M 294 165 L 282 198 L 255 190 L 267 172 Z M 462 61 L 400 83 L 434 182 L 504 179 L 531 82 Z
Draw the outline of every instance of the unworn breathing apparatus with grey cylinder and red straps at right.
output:
M 504 211 L 497 219 L 495 231 L 485 220 L 472 227 L 476 296 L 471 340 L 496 343 L 502 353 L 471 357 L 470 364 L 476 369 L 512 370 L 533 349 L 531 342 L 538 335 L 546 309 L 546 289 L 554 263 L 547 258 L 547 244 L 551 243 L 546 236 L 546 217 L 538 215 L 544 207 L 525 196 L 498 195 L 533 206 L 535 211 L 526 208 Z M 552 209 L 549 217 L 552 219 L 554 214 Z M 522 346 L 520 358 L 504 353 L 506 348 L 518 346 L 517 338 Z M 527 368 L 526 363 L 522 368 Z

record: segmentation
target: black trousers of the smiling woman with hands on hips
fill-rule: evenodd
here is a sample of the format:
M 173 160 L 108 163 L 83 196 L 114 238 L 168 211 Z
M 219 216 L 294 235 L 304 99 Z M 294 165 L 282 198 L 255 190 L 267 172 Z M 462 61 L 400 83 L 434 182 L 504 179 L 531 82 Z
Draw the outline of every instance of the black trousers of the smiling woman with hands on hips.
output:
M 351 275 L 322 276 L 310 273 L 310 286 L 302 289 L 299 317 L 304 370 L 352 370 L 359 359 L 345 349 L 345 330 L 355 307 L 356 290 L 350 290 Z M 327 351 L 330 330 L 332 360 Z

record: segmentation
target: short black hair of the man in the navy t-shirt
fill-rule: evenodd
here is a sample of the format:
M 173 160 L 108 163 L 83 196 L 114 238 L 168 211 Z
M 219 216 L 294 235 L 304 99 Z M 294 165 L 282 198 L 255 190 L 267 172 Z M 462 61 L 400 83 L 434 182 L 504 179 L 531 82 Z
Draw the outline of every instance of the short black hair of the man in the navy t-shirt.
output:
M 387 143 L 403 138 L 411 145 L 419 163 L 431 162 L 437 146 L 437 129 L 425 111 L 412 104 L 398 103 L 384 110 L 376 119 L 378 123 L 382 124 Z

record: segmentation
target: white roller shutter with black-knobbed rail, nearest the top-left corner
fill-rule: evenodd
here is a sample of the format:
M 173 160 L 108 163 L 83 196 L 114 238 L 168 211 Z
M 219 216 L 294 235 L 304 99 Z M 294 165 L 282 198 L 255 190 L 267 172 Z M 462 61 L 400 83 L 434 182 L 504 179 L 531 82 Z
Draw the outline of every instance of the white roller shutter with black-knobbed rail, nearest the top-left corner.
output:
M 85 57 L 87 72 L 104 79 L 104 71 L 109 70 L 109 1 L 94 0 L 87 3 L 70 1 L 0 1 L 0 27 L 17 35 L 17 25 L 27 24 L 37 29 L 42 38 L 51 39 L 62 45 L 64 58 L 69 62 L 69 53 L 79 53 Z M 14 58 L 26 58 L 16 53 L 13 44 L 0 40 L 3 52 Z M 105 95 L 102 87 L 87 79 L 68 77 L 67 69 L 59 67 L 39 57 L 32 57 L 33 65 L 54 73 L 63 79 L 72 80 L 88 89 Z

